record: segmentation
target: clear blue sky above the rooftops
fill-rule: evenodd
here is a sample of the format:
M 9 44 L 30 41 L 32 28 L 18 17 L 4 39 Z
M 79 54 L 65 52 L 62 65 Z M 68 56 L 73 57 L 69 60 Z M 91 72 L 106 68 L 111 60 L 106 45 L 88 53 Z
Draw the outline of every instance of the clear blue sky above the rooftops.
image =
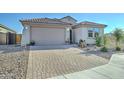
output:
M 108 25 L 105 33 L 111 32 L 114 28 L 124 28 L 124 13 L 0 13 L 0 24 L 6 25 L 17 33 L 22 32 L 20 19 L 30 18 L 62 18 L 72 16 L 78 22 L 91 21 Z

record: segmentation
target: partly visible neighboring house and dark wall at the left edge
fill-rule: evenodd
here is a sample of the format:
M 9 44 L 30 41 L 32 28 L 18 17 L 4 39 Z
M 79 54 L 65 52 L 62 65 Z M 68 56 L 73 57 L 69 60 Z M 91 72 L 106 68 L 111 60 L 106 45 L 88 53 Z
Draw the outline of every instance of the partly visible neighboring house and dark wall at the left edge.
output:
M 16 32 L 0 24 L 0 45 L 15 44 Z

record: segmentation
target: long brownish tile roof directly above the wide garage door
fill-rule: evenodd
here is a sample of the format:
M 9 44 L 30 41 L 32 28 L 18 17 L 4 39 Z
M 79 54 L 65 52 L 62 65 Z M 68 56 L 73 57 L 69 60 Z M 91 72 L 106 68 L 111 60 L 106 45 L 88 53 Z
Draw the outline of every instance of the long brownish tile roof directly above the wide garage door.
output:
M 25 19 L 20 20 L 21 22 L 32 22 L 32 23 L 45 23 L 45 24 L 64 24 L 71 25 L 70 23 L 62 22 L 60 19 L 54 18 L 34 18 L 34 19 Z

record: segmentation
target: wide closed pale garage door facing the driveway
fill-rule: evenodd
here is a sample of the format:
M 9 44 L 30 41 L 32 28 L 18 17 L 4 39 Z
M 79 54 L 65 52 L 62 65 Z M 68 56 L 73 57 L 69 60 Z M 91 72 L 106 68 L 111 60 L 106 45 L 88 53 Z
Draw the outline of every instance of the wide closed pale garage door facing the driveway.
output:
M 64 44 L 64 29 L 55 28 L 32 28 L 31 40 L 36 45 Z

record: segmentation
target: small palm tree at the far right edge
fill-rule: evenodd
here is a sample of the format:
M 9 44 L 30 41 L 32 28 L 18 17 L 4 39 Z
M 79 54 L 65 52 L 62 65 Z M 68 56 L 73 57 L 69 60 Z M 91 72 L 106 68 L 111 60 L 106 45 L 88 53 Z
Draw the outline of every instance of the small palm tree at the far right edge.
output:
M 123 30 L 120 28 L 115 28 L 113 35 L 116 38 L 116 50 L 118 50 L 119 47 L 119 42 L 121 41 L 121 39 L 123 38 Z

